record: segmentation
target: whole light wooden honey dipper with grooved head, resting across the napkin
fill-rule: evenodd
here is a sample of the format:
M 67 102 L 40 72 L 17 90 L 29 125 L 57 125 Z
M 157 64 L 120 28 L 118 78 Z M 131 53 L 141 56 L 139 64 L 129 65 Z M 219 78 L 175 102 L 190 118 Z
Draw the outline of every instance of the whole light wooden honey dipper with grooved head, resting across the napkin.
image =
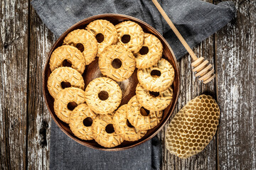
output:
M 208 60 L 205 60 L 203 57 L 196 57 L 195 53 L 191 49 L 191 47 L 188 46 L 188 43 L 184 38 L 182 37 L 181 33 L 178 32 L 177 28 L 174 26 L 174 23 L 171 22 L 171 19 L 166 15 L 164 12 L 164 9 L 161 8 L 160 4 L 157 0 L 152 0 L 156 8 L 159 10 L 161 15 L 164 17 L 165 21 L 169 24 L 171 27 L 171 30 L 174 31 L 175 35 L 178 37 L 178 40 L 181 41 L 182 45 L 186 48 L 189 55 L 191 55 L 193 62 L 191 63 L 191 66 L 193 67 L 193 72 L 196 72 L 195 76 L 199 77 L 199 80 L 203 80 L 204 84 L 207 84 L 211 80 L 215 78 L 214 69 L 212 64 L 208 64 Z

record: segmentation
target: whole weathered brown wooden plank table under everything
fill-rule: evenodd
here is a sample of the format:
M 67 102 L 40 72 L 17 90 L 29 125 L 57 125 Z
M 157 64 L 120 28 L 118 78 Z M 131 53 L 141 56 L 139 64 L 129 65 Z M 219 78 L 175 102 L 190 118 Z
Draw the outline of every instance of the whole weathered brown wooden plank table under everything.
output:
M 215 64 L 215 81 L 199 82 L 190 57 L 178 62 L 181 95 L 175 113 L 192 98 L 211 94 L 221 109 L 218 132 L 189 159 L 167 152 L 162 140 L 162 169 L 256 169 L 256 1 L 235 4 L 237 17 L 194 49 Z M 42 72 L 56 38 L 29 0 L 1 0 L 0 18 L 0 169 L 48 169 L 50 114 Z

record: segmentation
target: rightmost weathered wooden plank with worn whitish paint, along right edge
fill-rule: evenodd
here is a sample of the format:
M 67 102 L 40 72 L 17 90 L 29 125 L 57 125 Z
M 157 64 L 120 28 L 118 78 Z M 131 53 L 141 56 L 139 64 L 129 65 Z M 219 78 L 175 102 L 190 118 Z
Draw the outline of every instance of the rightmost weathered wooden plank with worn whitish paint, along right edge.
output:
M 237 17 L 215 38 L 219 169 L 256 169 L 256 2 L 235 4 Z

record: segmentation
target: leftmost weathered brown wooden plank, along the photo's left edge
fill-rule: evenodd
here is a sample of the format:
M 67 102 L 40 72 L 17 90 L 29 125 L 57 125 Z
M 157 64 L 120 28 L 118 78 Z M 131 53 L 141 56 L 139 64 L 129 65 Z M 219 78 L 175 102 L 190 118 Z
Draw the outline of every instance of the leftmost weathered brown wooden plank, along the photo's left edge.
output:
M 1 1 L 0 18 L 0 169 L 26 169 L 28 1 Z

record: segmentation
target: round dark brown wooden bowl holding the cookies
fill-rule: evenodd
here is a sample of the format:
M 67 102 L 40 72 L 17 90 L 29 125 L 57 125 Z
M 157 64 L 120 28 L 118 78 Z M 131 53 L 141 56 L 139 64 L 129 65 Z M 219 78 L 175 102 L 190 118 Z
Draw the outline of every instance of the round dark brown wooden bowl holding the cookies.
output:
M 120 23 L 122 21 L 126 21 L 126 20 L 134 21 L 135 23 L 138 23 L 139 26 L 141 26 L 143 28 L 145 33 L 154 34 L 154 35 L 156 35 L 157 38 L 159 38 L 159 40 L 161 40 L 161 43 L 163 44 L 163 47 L 164 47 L 163 57 L 172 64 L 172 66 L 174 67 L 174 70 L 175 70 L 174 84 L 172 84 L 172 88 L 174 89 L 173 100 L 171 101 L 171 104 L 164 110 L 164 115 L 163 115 L 163 118 L 161 119 L 160 123 L 158 125 L 156 125 L 155 128 L 148 130 L 148 132 L 146 133 L 146 135 L 144 137 L 142 137 L 142 139 L 134 141 L 134 142 L 124 141 L 124 142 L 122 142 L 121 145 L 114 147 L 114 148 L 102 147 L 102 146 L 98 145 L 97 142 L 95 142 L 95 140 L 80 140 L 78 137 L 75 137 L 75 135 L 73 135 L 73 132 L 71 132 L 68 124 L 61 121 L 57 117 L 57 115 L 55 115 L 55 112 L 53 109 L 54 98 L 52 96 L 50 96 L 49 91 L 47 89 L 47 81 L 48 81 L 48 77 L 51 73 L 50 67 L 49 67 L 49 60 L 50 60 L 50 55 L 52 54 L 52 52 L 57 47 L 59 47 L 63 44 L 63 40 L 64 40 L 65 36 L 68 35 L 68 33 L 70 33 L 71 31 L 73 31 L 75 29 L 84 29 L 88 23 L 90 23 L 91 21 L 95 21 L 97 19 L 105 19 L 107 21 L 110 21 L 114 25 L 116 25 L 117 23 Z M 82 77 L 85 80 L 85 87 L 87 86 L 87 84 L 89 84 L 90 81 L 92 81 L 92 79 L 95 79 L 97 77 L 102 77 L 102 74 L 98 67 L 98 59 L 97 58 L 94 62 L 92 62 L 91 64 L 89 64 L 86 67 L 85 72 L 82 74 Z M 135 89 L 136 89 L 137 83 L 138 83 L 137 69 L 135 70 L 134 74 L 132 74 L 132 77 L 130 77 L 128 80 L 118 82 L 119 86 L 122 89 L 122 102 L 121 102 L 120 106 L 122 106 L 125 103 L 128 103 L 129 99 L 135 95 Z M 179 91 L 180 91 L 180 75 L 179 75 L 178 64 L 176 61 L 176 57 L 174 56 L 174 52 L 171 50 L 171 47 L 169 46 L 168 42 L 166 42 L 166 40 L 164 40 L 163 36 L 159 32 L 157 32 L 153 27 L 149 26 L 149 24 L 144 23 L 144 21 L 140 21 L 139 19 L 134 18 L 132 16 L 125 16 L 125 15 L 114 14 L 114 13 L 102 14 L 102 15 L 85 18 L 84 20 L 80 21 L 79 23 L 76 23 L 74 26 L 72 26 L 68 30 L 66 30 L 65 33 L 63 33 L 63 35 L 61 35 L 60 38 L 58 38 L 58 40 L 55 42 L 55 44 L 51 48 L 51 50 L 48 54 L 46 66 L 43 71 L 43 96 L 45 97 L 46 105 L 47 105 L 48 110 L 50 111 L 50 115 L 52 116 L 55 123 L 58 125 L 58 127 L 61 130 L 63 130 L 63 132 L 65 132 L 66 135 L 71 137 L 76 142 L 78 142 L 82 145 L 85 145 L 87 147 L 91 147 L 94 149 L 100 149 L 100 150 L 117 151 L 117 150 L 129 149 L 131 147 L 140 145 L 143 142 L 146 142 L 147 140 L 154 137 L 164 127 L 167 120 L 169 120 L 171 114 L 174 112 L 174 108 L 176 106 L 176 101 L 178 100 Z

